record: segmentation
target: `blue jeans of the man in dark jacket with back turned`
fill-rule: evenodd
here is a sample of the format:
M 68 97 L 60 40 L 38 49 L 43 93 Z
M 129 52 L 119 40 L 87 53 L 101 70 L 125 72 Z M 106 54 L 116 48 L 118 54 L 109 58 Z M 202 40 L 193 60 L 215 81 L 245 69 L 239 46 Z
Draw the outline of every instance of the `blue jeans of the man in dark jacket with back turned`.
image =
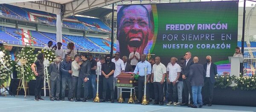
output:
M 203 104 L 201 91 L 202 86 L 192 86 L 192 97 L 194 106 L 197 106 L 197 104 Z

